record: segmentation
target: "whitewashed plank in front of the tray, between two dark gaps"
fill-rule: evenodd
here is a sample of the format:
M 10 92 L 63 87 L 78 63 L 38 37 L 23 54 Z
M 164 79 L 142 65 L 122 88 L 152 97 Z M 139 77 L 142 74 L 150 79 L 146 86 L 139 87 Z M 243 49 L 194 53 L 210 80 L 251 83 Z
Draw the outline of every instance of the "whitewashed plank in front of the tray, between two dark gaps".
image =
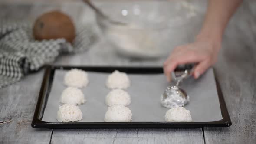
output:
M 201 129 L 54 130 L 52 143 L 63 144 L 203 144 Z

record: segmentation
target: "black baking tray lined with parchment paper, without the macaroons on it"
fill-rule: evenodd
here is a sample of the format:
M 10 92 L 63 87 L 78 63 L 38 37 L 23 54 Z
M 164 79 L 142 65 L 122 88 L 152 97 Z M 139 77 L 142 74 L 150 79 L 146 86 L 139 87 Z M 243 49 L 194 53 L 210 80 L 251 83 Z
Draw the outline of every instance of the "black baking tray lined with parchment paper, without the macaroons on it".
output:
M 95 118 L 95 121 L 93 121 L 92 118 L 89 118 L 88 116 L 86 116 L 80 122 L 78 121 L 78 122 L 60 123 L 56 120 L 56 113 L 58 110 L 57 108 L 59 107 L 59 105 L 62 105 L 62 104 L 59 103 L 59 101 L 55 100 L 54 104 L 56 103 L 56 108 L 51 108 L 50 105 L 54 101 L 53 97 L 56 96 L 59 99 L 61 92 L 66 88 L 66 86 L 63 85 L 63 78 L 64 78 L 63 75 L 69 69 L 74 69 L 74 68 L 83 69 L 86 72 L 88 72 L 90 82 L 92 80 L 90 78 L 90 75 L 93 76 L 93 75 L 100 74 L 100 75 L 103 75 L 103 77 L 105 75 L 104 81 L 102 82 L 102 88 L 100 88 L 102 90 L 105 89 L 105 95 L 101 94 L 101 96 L 100 96 L 102 107 L 92 108 L 92 109 L 94 109 L 94 110 L 92 110 L 92 112 L 95 113 L 95 115 L 97 115 L 98 111 L 104 111 L 104 112 L 107 111 L 107 106 L 104 105 L 104 101 L 105 101 L 105 96 L 106 96 L 107 92 L 109 92 L 110 90 L 108 90 L 107 88 L 104 87 L 105 79 L 106 79 L 107 75 L 109 75 L 114 70 L 119 70 L 121 72 L 128 73 L 128 76 L 131 79 L 131 85 L 136 85 L 135 79 L 139 79 L 140 77 L 144 77 L 143 79 L 144 79 L 145 83 L 152 83 L 153 81 L 157 82 L 157 84 L 155 84 L 155 85 L 158 85 L 158 83 L 159 83 L 159 85 L 161 85 L 161 87 L 163 87 L 161 92 L 168 85 L 167 82 L 165 82 L 165 80 L 164 80 L 163 70 L 161 67 L 142 67 L 142 68 L 140 68 L 140 67 L 79 67 L 79 66 L 47 65 L 45 75 L 43 77 L 42 87 L 39 92 L 39 98 L 37 101 L 33 121 L 31 124 L 33 128 L 72 128 L 72 129 L 73 128 L 202 128 L 202 127 L 229 127 L 231 125 L 231 120 L 230 120 L 230 117 L 229 117 L 229 114 L 228 114 L 228 111 L 226 108 L 226 104 L 225 104 L 225 101 L 224 101 L 224 98 L 223 98 L 223 95 L 222 95 L 222 92 L 220 89 L 220 85 L 219 85 L 217 79 L 214 77 L 212 69 L 208 70 L 209 72 L 206 72 L 206 74 L 202 75 L 201 80 L 200 79 L 197 81 L 195 81 L 193 79 L 188 80 L 188 82 L 186 82 L 186 83 L 189 83 L 190 88 L 185 86 L 185 89 L 186 90 L 190 89 L 190 91 L 192 91 L 194 88 L 193 87 L 194 85 L 197 85 L 197 83 L 203 83 L 203 81 L 205 79 L 207 79 L 209 77 L 209 75 L 213 75 L 212 76 L 213 77 L 212 79 L 214 81 L 213 84 L 216 85 L 216 88 L 215 88 L 216 89 L 216 97 L 218 97 L 217 98 L 218 104 L 217 104 L 216 108 L 219 107 L 219 109 L 220 109 L 220 116 L 219 117 L 216 116 L 216 118 L 215 118 L 216 121 L 210 121 L 212 119 L 208 118 L 208 117 L 210 117 L 211 115 L 214 115 L 213 113 L 218 111 L 218 109 L 216 111 L 207 111 L 207 107 L 209 106 L 208 104 L 202 105 L 202 106 L 205 106 L 205 108 L 198 107 L 200 109 L 203 109 L 204 114 L 207 116 L 205 116 L 205 115 L 204 115 L 204 117 L 202 116 L 202 118 L 204 118 L 204 119 L 202 119 L 202 121 L 200 121 L 199 118 L 194 118 L 194 115 L 198 115 L 198 113 L 200 113 L 200 112 L 194 112 L 194 114 L 193 114 L 193 111 L 191 111 L 192 107 L 190 104 L 193 103 L 193 99 L 196 99 L 196 98 L 195 97 L 193 98 L 192 97 L 193 95 L 192 96 L 190 95 L 190 91 L 188 92 L 188 94 L 190 95 L 190 103 L 188 105 L 186 105 L 185 108 L 187 108 L 191 111 L 193 122 L 165 122 L 164 114 L 168 110 L 168 108 L 164 108 L 164 107 L 160 106 L 161 104 L 160 104 L 159 99 L 160 99 L 161 93 L 159 93 L 159 95 L 156 95 L 157 98 L 154 98 L 155 100 L 153 101 L 154 104 L 156 104 L 156 108 L 154 108 L 154 109 L 158 110 L 159 113 L 161 113 L 161 116 L 159 116 L 158 111 L 152 111 L 152 113 L 148 113 L 148 111 L 146 111 L 142 107 L 137 108 L 138 101 L 140 101 L 141 99 L 138 99 L 139 98 L 138 96 L 132 97 L 132 95 L 134 93 L 134 91 L 133 91 L 134 88 L 128 88 L 127 91 L 131 95 L 131 105 L 129 105 L 128 107 L 132 110 L 132 114 L 133 114 L 132 122 L 104 122 L 104 114 L 101 113 L 98 116 L 95 116 L 95 115 L 92 116 L 92 118 Z M 212 71 L 212 74 L 210 71 Z M 56 87 L 56 84 L 53 85 L 53 83 L 56 83 L 55 81 L 57 79 L 56 78 L 57 76 L 61 77 L 61 79 L 62 79 L 61 84 L 60 84 L 60 88 L 62 88 L 62 90 L 61 91 L 58 90 L 59 93 L 54 93 L 55 89 L 58 88 L 58 87 Z M 148 76 L 148 79 L 147 79 L 147 76 Z M 100 76 L 98 78 L 100 79 Z M 159 79 L 161 79 L 161 80 L 159 80 Z M 92 82 L 91 86 L 93 87 L 93 85 L 94 84 Z M 139 83 L 137 85 L 142 85 L 142 84 Z M 90 84 L 89 84 L 89 86 L 90 86 Z M 147 86 L 150 87 L 150 85 L 147 85 Z M 200 85 L 197 87 L 200 87 Z M 191 90 L 191 88 L 192 88 L 192 90 Z M 85 105 L 87 105 L 87 106 L 93 105 L 93 103 L 90 104 L 89 101 L 96 101 L 96 99 L 97 99 L 96 97 L 95 97 L 95 100 L 93 99 L 93 97 L 95 95 L 86 95 L 87 93 L 90 93 L 91 89 L 92 88 L 89 87 L 89 88 L 87 88 L 86 91 L 83 91 L 85 93 L 85 98 L 88 100 L 87 101 L 88 104 L 86 102 L 84 105 L 79 105 L 79 108 L 81 109 L 82 112 L 83 112 L 83 108 L 81 108 L 81 107 L 83 107 Z M 153 88 L 150 88 L 150 89 L 152 90 Z M 214 88 L 211 88 L 211 89 L 214 90 Z M 157 88 L 155 90 L 157 91 Z M 137 91 L 135 91 L 135 92 L 137 92 Z M 158 90 L 158 91 L 160 92 L 160 90 Z M 210 91 L 208 93 L 214 93 L 214 92 L 210 92 Z M 151 91 L 151 92 L 143 91 L 142 94 L 144 93 L 144 95 L 140 95 L 140 96 L 143 97 L 143 96 L 145 96 L 145 94 L 150 95 L 152 92 L 154 93 L 154 91 Z M 91 100 L 89 100 L 88 97 L 91 97 L 91 98 L 89 98 Z M 147 107 L 148 104 L 147 103 L 143 104 L 143 102 L 142 102 L 141 105 L 144 105 L 145 107 Z M 154 105 L 152 107 L 154 107 Z M 138 112 L 136 113 L 136 109 L 137 110 L 140 109 L 142 114 L 141 113 L 138 114 Z M 210 108 L 210 109 L 213 109 L 213 108 Z M 53 119 L 51 119 L 51 117 L 48 117 L 48 119 L 47 119 L 47 115 L 49 115 L 49 111 L 53 112 L 53 114 L 54 114 L 54 116 L 52 116 Z M 140 115 L 143 115 L 143 111 L 145 113 L 145 116 L 141 117 Z M 100 112 L 98 112 L 98 113 L 100 113 Z M 148 113 L 148 115 L 147 115 L 147 113 Z M 149 114 L 152 114 L 153 116 L 155 115 L 157 118 L 153 119 L 153 117 L 150 117 Z M 83 117 L 84 117 L 84 115 L 86 115 L 85 112 L 83 112 Z M 145 119 L 145 118 L 147 118 L 147 116 L 148 116 L 148 119 Z M 100 117 L 101 119 L 100 120 L 97 119 L 98 117 Z M 152 118 L 152 119 L 150 119 L 150 118 Z M 89 120 L 89 121 L 86 121 L 86 120 Z M 194 121 L 194 120 L 196 120 L 196 121 Z M 214 118 L 213 118 L 213 120 L 214 120 Z

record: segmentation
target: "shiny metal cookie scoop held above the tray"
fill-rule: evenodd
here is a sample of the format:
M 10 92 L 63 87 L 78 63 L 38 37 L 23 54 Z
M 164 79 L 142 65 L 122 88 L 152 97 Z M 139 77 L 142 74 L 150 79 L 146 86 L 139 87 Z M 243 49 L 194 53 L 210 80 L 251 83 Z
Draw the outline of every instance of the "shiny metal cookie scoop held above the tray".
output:
M 179 65 L 174 72 L 172 78 L 177 81 L 176 85 L 166 88 L 161 95 L 161 104 L 167 108 L 174 108 L 177 106 L 184 106 L 189 101 L 187 93 L 179 88 L 179 84 L 186 78 L 192 75 L 194 71 L 194 64 Z

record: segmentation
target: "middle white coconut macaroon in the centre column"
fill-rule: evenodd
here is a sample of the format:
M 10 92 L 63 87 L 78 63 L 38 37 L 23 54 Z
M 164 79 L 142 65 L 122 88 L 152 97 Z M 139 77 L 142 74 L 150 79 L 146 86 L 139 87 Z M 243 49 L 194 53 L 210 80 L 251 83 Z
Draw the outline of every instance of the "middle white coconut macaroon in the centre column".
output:
M 128 92 L 125 92 L 121 89 L 114 89 L 108 93 L 106 96 L 106 105 L 130 105 L 131 104 L 131 97 Z

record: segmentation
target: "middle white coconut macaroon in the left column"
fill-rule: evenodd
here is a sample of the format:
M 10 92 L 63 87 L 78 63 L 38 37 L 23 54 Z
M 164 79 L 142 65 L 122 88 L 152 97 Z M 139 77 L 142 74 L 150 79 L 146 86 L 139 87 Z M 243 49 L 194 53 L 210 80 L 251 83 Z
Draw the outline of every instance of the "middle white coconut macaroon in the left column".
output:
M 68 87 L 61 95 L 60 102 L 72 105 L 81 105 L 85 103 L 85 96 L 79 88 Z

